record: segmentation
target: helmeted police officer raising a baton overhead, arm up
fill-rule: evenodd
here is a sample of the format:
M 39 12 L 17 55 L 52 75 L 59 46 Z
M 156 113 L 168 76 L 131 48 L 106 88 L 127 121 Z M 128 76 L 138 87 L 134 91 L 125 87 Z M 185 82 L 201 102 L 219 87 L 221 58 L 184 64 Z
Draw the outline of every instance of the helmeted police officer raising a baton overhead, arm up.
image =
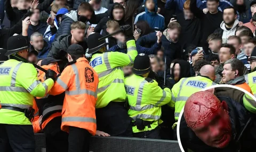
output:
M 130 29 L 132 29 L 130 27 Z M 87 38 L 90 65 L 99 74 L 98 100 L 96 103 L 97 129 L 111 136 L 132 137 L 131 118 L 124 107 L 126 92 L 122 67 L 133 65 L 138 55 L 132 30 L 125 31 L 127 54 L 105 52 L 107 43 L 98 41 L 98 33 Z

